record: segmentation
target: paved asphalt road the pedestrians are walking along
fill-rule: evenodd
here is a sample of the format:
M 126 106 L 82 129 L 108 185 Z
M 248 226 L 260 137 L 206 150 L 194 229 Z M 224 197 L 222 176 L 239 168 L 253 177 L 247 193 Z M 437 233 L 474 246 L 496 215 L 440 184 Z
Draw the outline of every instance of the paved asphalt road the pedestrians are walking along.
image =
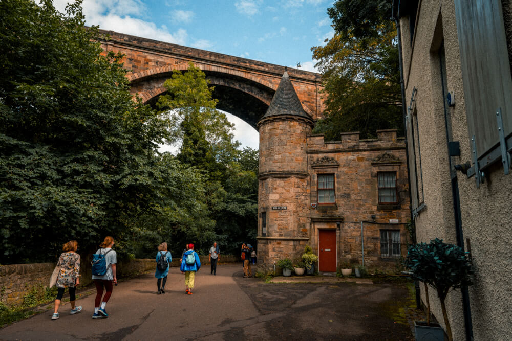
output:
M 60 319 L 51 312 L 0 330 L 5 340 L 410 340 L 409 326 L 396 323 L 407 288 L 390 284 L 264 283 L 242 278 L 239 265 L 204 266 L 195 293 L 184 293 L 184 276 L 171 269 L 166 294 L 156 294 L 152 274 L 121 282 L 106 310 L 92 320 L 94 294 L 77 301 L 84 311 Z

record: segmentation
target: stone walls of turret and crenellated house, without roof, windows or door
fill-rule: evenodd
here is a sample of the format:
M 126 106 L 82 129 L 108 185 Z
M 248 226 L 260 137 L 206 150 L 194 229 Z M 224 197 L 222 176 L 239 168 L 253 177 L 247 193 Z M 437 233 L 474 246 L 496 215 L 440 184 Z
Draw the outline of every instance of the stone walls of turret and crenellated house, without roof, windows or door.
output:
M 260 218 L 261 212 L 266 212 L 267 234 L 262 236 L 260 219 L 258 251 L 266 270 L 271 270 L 273 262 L 279 259 L 300 258 L 306 244 L 319 255 L 321 230 L 335 231 L 336 268 L 342 262 L 361 264 L 361 221 L 364 221 L 365 265 L 391 272 L 399 269 L 400 258 L 407 254 L 410 243 L 406 229 L 410 210 L 404 139 L 397 137 L 396 129 L 378 130 L 377 138 L 369 140 L 359 140 L 357 132 L 343 133 L 339 141 L 330 142 L 324 141 L 323 135 L 310 135 L 304 160 L 301 134 L 289 133 L 288 127 L 293 127 L 293 123 L 283 121 L 260 127 L 270 137 L 260 141 L 265 148 L 261 148 L 259 210 Z M 274 141 L 272 136 L 287 139 L 288 144 L 297 146 L 293 150 L 279 149 L 281 140 Z M 304 162 L 307 171 L 302 177 Z M 288 169 L 296 174 L 285 178 L 278 174 L 265 175 Z M 379 203 L 379 172 L 396 173 L 396 203 Z M 332 204 L 317 202 L 319 174 L 334 174 L 335 202 Z M 312 203 L 316 204 L 315 208 Z M 285 206 L 286 210 L 272 209 L 275 206 Z M 400 255 L 381 256 L 381 230 L 399 232 Z

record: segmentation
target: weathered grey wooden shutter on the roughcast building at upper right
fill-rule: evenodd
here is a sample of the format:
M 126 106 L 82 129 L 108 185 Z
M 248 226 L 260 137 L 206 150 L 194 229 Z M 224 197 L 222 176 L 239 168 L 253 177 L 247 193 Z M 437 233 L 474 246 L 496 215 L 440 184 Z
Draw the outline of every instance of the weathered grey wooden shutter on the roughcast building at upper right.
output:
M 512 77 L 501 1 L 455 0 L 455 16 L 468 135 L 470 146 L 475 135 L 480 161 L 499 142 L 498 108 L 505 138 L 512 131 Z

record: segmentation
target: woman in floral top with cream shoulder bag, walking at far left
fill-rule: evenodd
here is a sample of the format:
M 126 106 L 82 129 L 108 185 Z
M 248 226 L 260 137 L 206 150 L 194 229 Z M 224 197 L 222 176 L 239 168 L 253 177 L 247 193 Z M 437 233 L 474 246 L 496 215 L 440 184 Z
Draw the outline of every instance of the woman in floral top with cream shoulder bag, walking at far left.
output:
M 82 306 L 75 306 L 75 289 L 80 284 L 80 255 L 76 253 L 78 243 L 72 240 L 62 245 L 64 251 L 59 258 L 60 273 L 57 277 L 57 297 L 55 298 L 55 311 L 52 320 L 59 318 L 59 306 L 64 290 L 68 288 L 69 301 L 71 303 L 70 314 L 76 314 L 82 310 Z

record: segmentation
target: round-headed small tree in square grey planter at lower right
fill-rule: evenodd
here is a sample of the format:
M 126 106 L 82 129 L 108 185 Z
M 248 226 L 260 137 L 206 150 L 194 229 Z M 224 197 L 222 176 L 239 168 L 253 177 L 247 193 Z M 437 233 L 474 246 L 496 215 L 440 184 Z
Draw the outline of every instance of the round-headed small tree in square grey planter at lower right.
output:
M 466 254 L 461 247 L 446 244 L 438 238 L 431 240 L 429 244 L 420 243 L 409 246 L 406 267 L 414 279 L 423 282 L 426 297 L 426 326 L 421 321 L 414 321 L 417 340 L 421 339 L 425 333 L 435 331 L 435 329 L 431 330 L 432 323 L 430 322 L 430 285 L 436 290 L 441 303 L 448 340 L 453 341 L 445 300 L 450 291 L 473 284 L 473 265 L 467 259 Z M 428 330 L 425 331 L 425 328 Z M 435 328 L 439 331 L 438 339 L 444 340 L 444 331 L 441 326 L 438 325 Z

